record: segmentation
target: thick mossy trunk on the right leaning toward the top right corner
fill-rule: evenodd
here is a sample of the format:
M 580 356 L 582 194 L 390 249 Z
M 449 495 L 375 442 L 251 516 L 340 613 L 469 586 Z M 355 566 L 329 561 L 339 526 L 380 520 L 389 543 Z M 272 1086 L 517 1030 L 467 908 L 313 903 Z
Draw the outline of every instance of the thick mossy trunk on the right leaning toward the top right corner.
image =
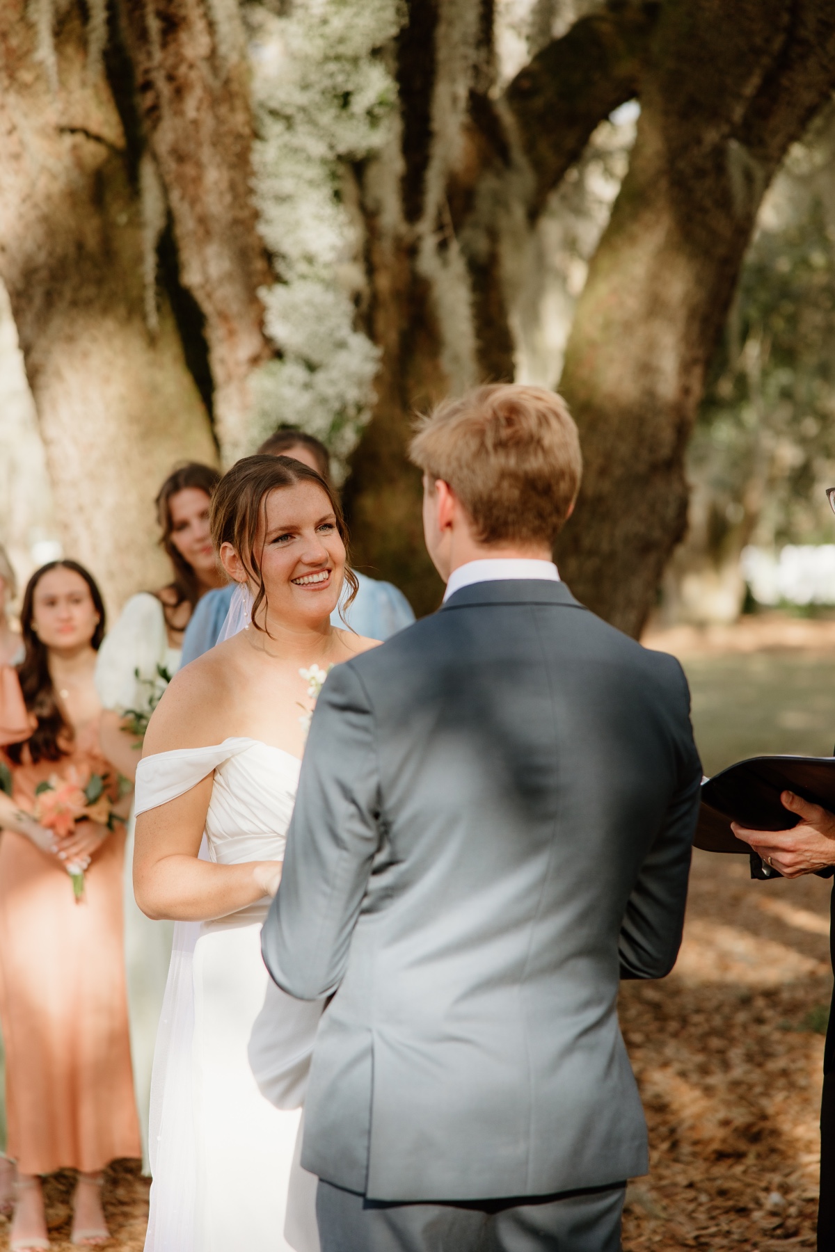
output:
M 632 635 L 685 530 L 685 448 L 762 193 L 834 86 L 826 0 L 661 8 L 561 382 L 585 458 L 561 572 Z

